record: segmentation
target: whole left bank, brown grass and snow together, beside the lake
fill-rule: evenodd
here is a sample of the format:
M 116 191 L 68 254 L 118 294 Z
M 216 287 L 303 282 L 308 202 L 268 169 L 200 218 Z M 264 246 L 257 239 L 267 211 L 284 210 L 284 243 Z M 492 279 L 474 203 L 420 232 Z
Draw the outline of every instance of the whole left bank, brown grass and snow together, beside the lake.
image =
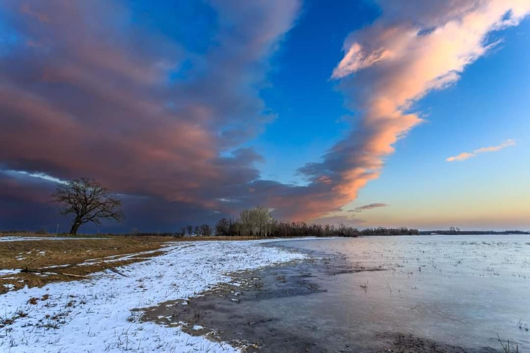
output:
M 303 258 L 262 247 L 266 240 L 174 240 L 0 241 L 2 278 L 10 281 L 0 295 L 0 351 L 232 352 L 181 324 L 143 322 L 135 309 L 187 300 L 229 282 L 227 273 Z M 26 264 L 55 274 L 14 270 Z

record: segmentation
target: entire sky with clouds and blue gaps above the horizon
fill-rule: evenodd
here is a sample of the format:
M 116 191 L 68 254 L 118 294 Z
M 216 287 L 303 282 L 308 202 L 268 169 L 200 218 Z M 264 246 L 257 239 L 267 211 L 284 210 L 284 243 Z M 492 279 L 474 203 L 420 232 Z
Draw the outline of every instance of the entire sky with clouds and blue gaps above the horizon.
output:
M 175 231 L 264 205 L 530 229 L 527 0 L 0 3 L 0 229 L 91 177 Z

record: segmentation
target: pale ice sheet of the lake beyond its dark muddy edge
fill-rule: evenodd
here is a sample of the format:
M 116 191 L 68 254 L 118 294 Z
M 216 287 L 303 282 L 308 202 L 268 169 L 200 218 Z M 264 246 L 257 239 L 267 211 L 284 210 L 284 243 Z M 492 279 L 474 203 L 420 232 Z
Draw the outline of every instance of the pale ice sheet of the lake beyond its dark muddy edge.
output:
M 382 267 L 317 276 L 326 292 L 269 300 L 286 330 L 323 346 L 374 347 L 382 332 L 500 349 L 497 334 L 530 351 L 530 237 L 418 236 L 319 239 L 282 246 L 345 255 Z M 314 330 L 304 329 L 311 323 Z M 281 330 L 281 327 L 279 328 Z M 309 337 L 308 337 L 309 339 Z M 348 351 L 348 350 L 345 350 Z

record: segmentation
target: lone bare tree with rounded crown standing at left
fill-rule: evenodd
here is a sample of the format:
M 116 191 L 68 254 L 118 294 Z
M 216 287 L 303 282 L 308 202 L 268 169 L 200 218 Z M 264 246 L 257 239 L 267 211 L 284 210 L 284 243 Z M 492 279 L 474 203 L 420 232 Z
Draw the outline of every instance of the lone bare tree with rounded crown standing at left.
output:
M 102 220 L 119 222 L 125 219 L 120 209 L 121 201 L 111 197 L 109 190 L 94 179 L 81 178 L 59 184 L 51 196 L 63 205 L 61 214 L 70 221 L 72 235 L 77 234 L 84 223 L 101 224 Z

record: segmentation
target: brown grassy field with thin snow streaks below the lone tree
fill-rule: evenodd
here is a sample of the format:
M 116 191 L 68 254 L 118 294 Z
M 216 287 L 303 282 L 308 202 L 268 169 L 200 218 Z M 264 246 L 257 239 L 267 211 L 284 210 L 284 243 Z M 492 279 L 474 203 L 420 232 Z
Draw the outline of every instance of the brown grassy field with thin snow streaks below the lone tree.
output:
M 0 277 L 0 293 L 26 285 L 34 287 L 77 280 L 98 271 L 142 261 L 160 255 L 157 250 L 166 242 L 164 238 L 147 241 L 138 237 L 2 241 L 0 273 L 4 271 L 6 275 Z

